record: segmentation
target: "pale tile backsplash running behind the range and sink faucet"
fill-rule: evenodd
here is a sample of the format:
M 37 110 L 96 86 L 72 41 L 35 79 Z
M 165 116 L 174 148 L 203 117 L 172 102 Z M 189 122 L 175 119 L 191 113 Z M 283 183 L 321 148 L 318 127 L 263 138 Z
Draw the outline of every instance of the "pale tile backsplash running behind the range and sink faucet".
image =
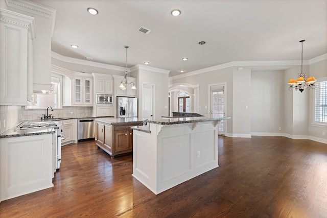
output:
M 91 117 L 93 107 L 62 107 L 49 108 L 49 114 L 55 118 Z M 40 120 L 46 109 L 25 109 L 24 106 L 0 106 L 0 134 L 14 128 L 23 120 Z

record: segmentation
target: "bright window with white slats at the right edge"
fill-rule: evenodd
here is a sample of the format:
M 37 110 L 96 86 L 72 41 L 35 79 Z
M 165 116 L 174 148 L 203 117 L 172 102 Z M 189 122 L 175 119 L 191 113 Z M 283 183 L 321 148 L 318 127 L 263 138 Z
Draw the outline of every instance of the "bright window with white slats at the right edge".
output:
M 327 123 L 327 81 L 315 85 L 315 122 Z

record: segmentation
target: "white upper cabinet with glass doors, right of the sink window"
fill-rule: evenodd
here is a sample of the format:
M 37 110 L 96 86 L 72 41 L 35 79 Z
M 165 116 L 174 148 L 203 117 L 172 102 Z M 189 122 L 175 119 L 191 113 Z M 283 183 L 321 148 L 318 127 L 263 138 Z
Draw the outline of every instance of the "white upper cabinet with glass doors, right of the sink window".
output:
M 64 77 L 63 106 L 92 106 L 93 79 L 86 77 Z

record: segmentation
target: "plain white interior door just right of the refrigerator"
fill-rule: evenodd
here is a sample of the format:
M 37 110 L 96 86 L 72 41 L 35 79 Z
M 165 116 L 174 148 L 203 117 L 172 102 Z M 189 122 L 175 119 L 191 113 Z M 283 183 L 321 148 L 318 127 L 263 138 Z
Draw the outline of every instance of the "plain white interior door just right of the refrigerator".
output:
M 154 93 L 155 93 L 155 84 L 142 83 L 142 105 L 141 105 L 141 116 L 142 119 L 154 119 Z

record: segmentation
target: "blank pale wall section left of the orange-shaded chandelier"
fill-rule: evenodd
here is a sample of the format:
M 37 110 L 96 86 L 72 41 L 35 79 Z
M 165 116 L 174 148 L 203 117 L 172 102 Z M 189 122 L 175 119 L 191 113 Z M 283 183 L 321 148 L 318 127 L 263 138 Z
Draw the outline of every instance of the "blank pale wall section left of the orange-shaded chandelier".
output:
M 284 87 L 284 70 L 251 72 L 251 135 L 278 136 L 285 131 Z

